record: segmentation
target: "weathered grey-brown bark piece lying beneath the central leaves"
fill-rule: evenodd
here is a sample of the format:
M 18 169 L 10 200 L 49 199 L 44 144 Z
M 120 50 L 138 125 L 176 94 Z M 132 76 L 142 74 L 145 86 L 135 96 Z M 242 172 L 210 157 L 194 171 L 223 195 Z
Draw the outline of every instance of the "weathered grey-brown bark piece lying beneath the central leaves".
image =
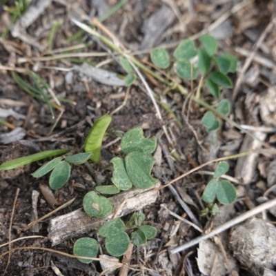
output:
M 61 243 L 65 239 L 99 229 L 99 227 L 115 215 L 117 209 L 125 199 L 126 203 L 119 210 L 117 217 L 141 210 L 144 206 L 156 201 L 158 191 L 155 188 L 158 186 L 159 184 L 148 190 L 132 188 L 132 190 L 110 197 L 109 199 L 113 205 L 112 213 L 103 219 L 90 217 L 82 209 L 51 219 L 48 226 L 48 237 L 50 242 L 52 242 L 52 246 Z

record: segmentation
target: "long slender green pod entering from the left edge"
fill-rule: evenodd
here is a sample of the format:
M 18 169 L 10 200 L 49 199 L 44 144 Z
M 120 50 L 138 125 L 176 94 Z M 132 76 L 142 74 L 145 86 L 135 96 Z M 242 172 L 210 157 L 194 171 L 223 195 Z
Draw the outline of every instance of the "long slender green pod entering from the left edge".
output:
M 66 153 L 68 151 L 69 150 L 46 150 L 43 152 L 34 153 L 34 155 L 12 159 L 1 164 L 0 170 L 12 170 L 13 168 L 18 168 L 20 166 L 30 164 L 34 161 L 39 161 L 41 159 L 46 159 L 55 155 L 63 155 L 63 153 Z

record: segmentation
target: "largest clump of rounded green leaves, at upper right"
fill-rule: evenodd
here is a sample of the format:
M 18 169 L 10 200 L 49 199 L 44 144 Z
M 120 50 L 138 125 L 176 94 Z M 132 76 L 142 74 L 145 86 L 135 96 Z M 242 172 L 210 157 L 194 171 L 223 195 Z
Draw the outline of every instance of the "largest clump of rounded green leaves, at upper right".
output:
M 218 99 L 222 87 L 233 87 L 228 74 L 236 71 L 237 59 L 230 54 L 217 55 L 217 40 L 210 35 L 200 37 L 199 42 L 202 47 L 197 49 L 195 41 L 190 39 L 181 41 L 173 52 L 173 57 L 175 58 L 173 66 L 176 74 L 182 79 L 194 80 L 200 74 L 204 77 L 204 87 L 213 97 Z M 155 66 L 161 69 L 170 67 L 169 55 L 165 49 L 153 49 L 150 52 L 150 57 Z M 230 113 L 230 102 L 227 99 L 220 101 L 217 105 L 217 111 L 224 116 L 228 116 Z M 205 113 L 201 124 L 206 128 L 207 132 L 219 129 L 219 121 L 217 121 L 213 112 L 210 111 Z

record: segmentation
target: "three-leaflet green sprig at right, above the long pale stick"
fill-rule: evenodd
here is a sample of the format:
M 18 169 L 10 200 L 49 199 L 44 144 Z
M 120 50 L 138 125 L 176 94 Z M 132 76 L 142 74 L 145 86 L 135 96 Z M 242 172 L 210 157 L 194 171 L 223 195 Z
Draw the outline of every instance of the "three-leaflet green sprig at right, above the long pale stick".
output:
M 221 179 L 221 175 L 224 175 L 229 170 L 229 164 L 226 161 L 221 161 L 215 169 L 213 179 L 211 179 L 202 195 L 202 199 L 211 204 L 217 200 L 221 204 L 231 204 L 237 197 L 236 189 L 230 181 Z

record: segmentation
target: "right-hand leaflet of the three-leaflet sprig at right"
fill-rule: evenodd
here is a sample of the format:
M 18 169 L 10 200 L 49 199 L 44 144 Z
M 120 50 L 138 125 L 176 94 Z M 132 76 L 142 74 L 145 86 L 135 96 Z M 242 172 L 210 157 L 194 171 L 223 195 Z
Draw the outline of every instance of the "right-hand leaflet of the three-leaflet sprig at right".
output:
M 231 204 L 236 200 L 237 192 L 235 186 L 228 180 L 217 182 L 217 200 L 221 204 Z

